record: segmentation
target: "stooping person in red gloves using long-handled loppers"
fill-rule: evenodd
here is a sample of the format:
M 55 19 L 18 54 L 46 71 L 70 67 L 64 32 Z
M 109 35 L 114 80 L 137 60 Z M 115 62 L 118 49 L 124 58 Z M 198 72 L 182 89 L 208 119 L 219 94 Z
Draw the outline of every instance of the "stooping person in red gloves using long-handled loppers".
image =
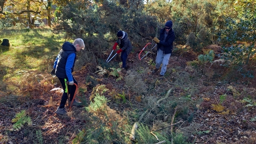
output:
M 129 53 L 132 50 L 132 44 L 130 42 L 130 39 L 125 31 L 119 30 L 117 32 L 117 41 L 113 46 L 113 50 L 116 50 L 116 46 L 119 45 L 119 50 L 116 53 L 121 53 L 121 59 L 122 59 L 122 68 L 127 69 L 126 66 L 126 60 L 129 55 Z

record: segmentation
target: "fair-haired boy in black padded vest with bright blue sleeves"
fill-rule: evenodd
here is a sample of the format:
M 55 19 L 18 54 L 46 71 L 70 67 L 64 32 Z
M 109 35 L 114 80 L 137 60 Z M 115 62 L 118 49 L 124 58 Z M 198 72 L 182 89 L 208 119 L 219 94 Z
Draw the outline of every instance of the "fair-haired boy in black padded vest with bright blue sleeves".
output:
M 76 61 L 76 52 L 84 49 L 84 41 L 81 38 L 75 39 L 72 43 L 65 42 L 62 45 L 54 65 L 51 71 L 51 75 L 56 75 L 63 88 L 63 94 L 60 101 L 60 106 L 55 111 L 56 114 L 65 115 L 67 111 L 65 110 L 65 105 L 68 99 L 68 92 L 70 94 L 69 105 L 73 100 L 76 86 L 76 79 L 73 77 L 72 72 L 74 71 L 75 61 Z M 72 106 L 81 106 L 81 102 L 73 101 Z

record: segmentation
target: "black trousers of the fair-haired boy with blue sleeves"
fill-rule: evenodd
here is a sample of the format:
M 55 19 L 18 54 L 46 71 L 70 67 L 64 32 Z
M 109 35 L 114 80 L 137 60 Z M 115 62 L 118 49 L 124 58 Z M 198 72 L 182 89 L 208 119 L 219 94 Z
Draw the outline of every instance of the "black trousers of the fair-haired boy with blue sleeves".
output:
M 76 92 L 76 86 L 65 84 L 65 78 L 59 78 L 59 80 L 60 80 L 60 83 L 61 83 L 62 88 L 63 88 L 63 94 L 62 94 L 62 97 L 61 97 L 59 108 L 64 108 L 65 105 L 66 105 L 67 99 L 68 99 L 68 94 L 70 94 L 69 101 L 71 101 L 73 99 L 74 94 Z M 73 77 L 73 81 L 74 81 L 75 84 L 77 84 L 76 79 L 74 77 Z M 68 86 L 67 87 L 68 91 L 66 90 L 66 85 Z

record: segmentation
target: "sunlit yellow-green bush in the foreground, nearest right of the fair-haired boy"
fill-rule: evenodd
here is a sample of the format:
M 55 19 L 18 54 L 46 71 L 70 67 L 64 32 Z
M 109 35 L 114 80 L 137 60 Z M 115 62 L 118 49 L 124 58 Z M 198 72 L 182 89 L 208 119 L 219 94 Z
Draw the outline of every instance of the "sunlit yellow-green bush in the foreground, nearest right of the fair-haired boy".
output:
M 94 101 L 90 103 L 86 110 L 92 114 L 90 129 L 82 141 L 89 143 L 110 143 L 115 141 L 124 142 L 124 135 L 121 131 L 125 128 L 125 121 L 116 114 L 116 111 L 107 106 L 107 98 L 99 93 L 95 94 Z

